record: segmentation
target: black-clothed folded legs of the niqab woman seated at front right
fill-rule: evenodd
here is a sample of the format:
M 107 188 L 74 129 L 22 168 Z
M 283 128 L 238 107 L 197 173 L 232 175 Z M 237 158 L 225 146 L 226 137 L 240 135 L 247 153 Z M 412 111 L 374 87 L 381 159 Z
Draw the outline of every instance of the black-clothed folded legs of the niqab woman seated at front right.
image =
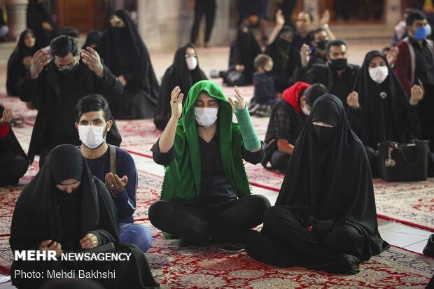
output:
M 309 232 L 300 219 L 288 206 L 272 206 L 265 212 L 260 235 L 253 235 L 247 242 L 248 255 L 279 267 L 301 265 L 357 273 L 363 234 L 351 225 L 335 225 L 318 236 Z

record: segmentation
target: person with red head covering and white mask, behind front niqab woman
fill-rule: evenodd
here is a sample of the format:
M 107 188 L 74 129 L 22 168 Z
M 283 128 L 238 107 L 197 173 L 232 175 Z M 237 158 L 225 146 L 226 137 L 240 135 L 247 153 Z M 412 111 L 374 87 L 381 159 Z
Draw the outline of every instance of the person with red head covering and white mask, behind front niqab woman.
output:
M 262 166 L 279 171 L 288 167 L 295 141 L 302 132 L 311 107 L 324 94 L 328 94 L 324 85 L 309 85 L 301 81 L 283 91 L 282 99 L 273 106 L 269 117 Z M 268 167 L 268 162 L 271 167 Z

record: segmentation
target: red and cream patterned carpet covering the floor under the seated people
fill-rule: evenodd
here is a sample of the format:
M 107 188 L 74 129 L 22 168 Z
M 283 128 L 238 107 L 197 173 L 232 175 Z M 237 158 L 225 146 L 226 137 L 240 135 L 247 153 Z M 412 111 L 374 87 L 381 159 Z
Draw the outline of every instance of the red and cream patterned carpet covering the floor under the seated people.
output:
M 229 91 L 226 87 L 225 91 Z M 246 92 L 247 93 L 247 92 Z M 29 111 L 18 99 L 0 97 L 0 104 L 12 106 L 15 113 L 34 122 L 36 111 Z M 265 136 L 267 119 L 253 120 L 261 138 Z M 150 120 L 118 121 L 123 147 L 131 152 L 150 156 L 149 149 L 160 135 Z M 31 127 L 15 128 L 15 134 L 27 148 Z M 13 208 L 23 185 L 38 171 L 35 162 L 20 185 L 0 188 L 0 270 L 8 273 L 12 253 L 8 234 Z M 253 185 L 279 191 L 282 175 L 260 166 L 246 166 Z M 360 266 L 355 276 L 331 275 L 303 268 L 279 269 L 248 258 L 246 253 L 225 253 L 211 247 L 179 248 L 177 240 L 164 239 L 148 221 L 148 206 L 159 197 L 162 178 L 153 171 L 139 171 L 137 223 L 151 228 L 155 239 L 147 254 L 155 278 L 162 288 L 423 288 L 434 274 L 432 258 L 391 248 Z M 434 180 L 420 183 L 375 182 L 377 213 L 399 218 L 434 230 Z M 276 192 L 277 193 L 277 192 Z

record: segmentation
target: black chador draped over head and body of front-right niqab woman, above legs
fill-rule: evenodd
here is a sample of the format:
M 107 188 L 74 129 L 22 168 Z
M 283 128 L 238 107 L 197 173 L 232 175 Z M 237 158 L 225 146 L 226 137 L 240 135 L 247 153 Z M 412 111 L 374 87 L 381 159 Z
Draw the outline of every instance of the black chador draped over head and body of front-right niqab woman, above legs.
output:
M 315 121 L 333 128 L 313 125 Z M 364 237 L 362 261 L 387 248 L 378 232 L 365 148 L 351 131 L 337 97 L 325 95 L 315 101 L 295 143 L 276 205 L 307 208 L 317 220 L 356 227 Z

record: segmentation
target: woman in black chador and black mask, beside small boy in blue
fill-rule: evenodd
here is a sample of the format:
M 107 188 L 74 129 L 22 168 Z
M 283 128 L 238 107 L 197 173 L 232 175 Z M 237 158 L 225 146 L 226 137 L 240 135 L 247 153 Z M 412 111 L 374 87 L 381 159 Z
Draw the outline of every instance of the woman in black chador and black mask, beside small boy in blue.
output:
M 267 46 L 265 54 L 273 59 L 274 87 L 277 92 L 283 92 L 293 85 L 293 73 L 300 60 L 300 55 L 293 48 L 294 31 L 289 26 L 283 26 L 276 39 Z

